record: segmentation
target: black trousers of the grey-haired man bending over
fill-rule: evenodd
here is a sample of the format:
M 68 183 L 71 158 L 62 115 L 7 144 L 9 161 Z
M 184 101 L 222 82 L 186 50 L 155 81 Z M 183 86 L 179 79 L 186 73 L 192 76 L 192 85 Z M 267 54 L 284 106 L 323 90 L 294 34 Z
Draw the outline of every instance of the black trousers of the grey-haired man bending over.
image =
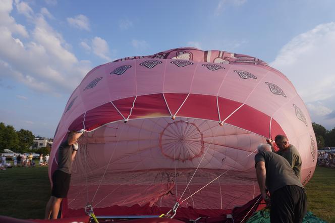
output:
M 306 211 L 307 197 L 305 189 L 302 187 L 287 185 L 271 194 L 271 223 L 301 223 Z

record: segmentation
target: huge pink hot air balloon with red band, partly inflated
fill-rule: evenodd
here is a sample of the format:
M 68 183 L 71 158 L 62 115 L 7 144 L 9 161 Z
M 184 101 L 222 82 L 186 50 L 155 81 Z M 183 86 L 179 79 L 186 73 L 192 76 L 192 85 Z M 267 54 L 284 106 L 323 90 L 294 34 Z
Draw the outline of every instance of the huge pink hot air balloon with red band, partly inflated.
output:
M 237 217 L 234 208 L 259 201 L 257 145 L 277 134 L 300 152 L 303 184 L 316 164 L 311 120 L 293 84 L 227 51 L 176 48 L 91 70 L 55 132 L 50 177 L 59 145 L 80 129 L 64 216 Z

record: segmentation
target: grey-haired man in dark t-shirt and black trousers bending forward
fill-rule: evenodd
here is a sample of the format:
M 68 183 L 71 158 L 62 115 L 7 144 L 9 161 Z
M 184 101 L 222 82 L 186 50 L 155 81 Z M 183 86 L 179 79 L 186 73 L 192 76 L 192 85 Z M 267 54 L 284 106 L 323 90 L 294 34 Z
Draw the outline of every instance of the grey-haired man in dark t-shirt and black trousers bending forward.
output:
M 288 160 L 271 152 L 270 145 L 260 144 L 255 165 L 261 195 L 271 205 L 271 222 L 302 222 L 307 210 L 306 192 Z

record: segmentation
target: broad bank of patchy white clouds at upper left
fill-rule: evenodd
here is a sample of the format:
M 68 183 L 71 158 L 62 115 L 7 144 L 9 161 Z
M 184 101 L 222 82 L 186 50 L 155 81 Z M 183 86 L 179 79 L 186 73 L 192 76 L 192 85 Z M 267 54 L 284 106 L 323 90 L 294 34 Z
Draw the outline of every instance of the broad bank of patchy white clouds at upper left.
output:
M 0 5 L 0 75 L 53 95 L 71 92 L 91 69 L 90 62 L 78 61 L 62 35 L 43 16 L 34 14 L 27 3 L 17 4 L 21 4 L 21 12 L 28 15 L 34 28 L 29 36 L 24 26 L 10 16 L 13 5 Z M 25 41 L 14 38 L 14 33 L 21 34 Z

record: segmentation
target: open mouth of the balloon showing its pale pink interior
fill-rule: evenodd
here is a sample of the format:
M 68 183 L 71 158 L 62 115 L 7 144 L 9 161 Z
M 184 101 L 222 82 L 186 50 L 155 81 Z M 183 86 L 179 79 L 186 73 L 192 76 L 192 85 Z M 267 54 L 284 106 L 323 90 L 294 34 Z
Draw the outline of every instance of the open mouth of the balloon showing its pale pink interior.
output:
M 256 196 L 253 153 L 265 139 L 229 124 L 183 117 L 100 126 L 81 138 L 69 207 L 78 209 L 87 202 L 101 208 L 148 203 L 171 207 L 184 190 L 187 197 L 202 187 L 203 192 L 182 206 L 242 205 Z M 208 197 L 215 202 L 204 203 Z

